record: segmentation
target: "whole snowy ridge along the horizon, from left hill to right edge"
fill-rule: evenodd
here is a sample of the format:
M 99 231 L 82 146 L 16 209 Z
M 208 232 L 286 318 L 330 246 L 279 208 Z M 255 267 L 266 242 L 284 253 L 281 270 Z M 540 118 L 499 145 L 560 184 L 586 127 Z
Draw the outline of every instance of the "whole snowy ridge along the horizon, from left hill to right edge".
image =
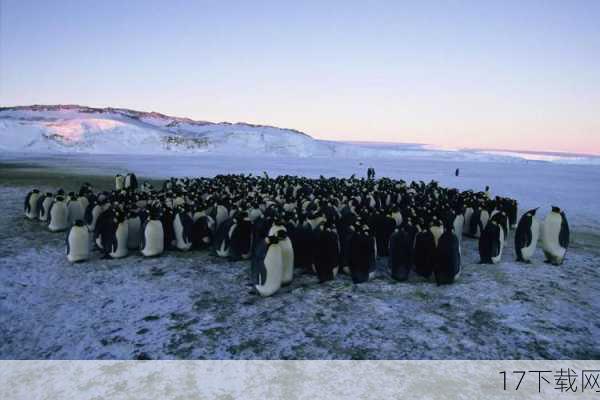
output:
M 0 107 L 0 151 L 22 154 L 199 154 L 418 158 L 453 161 L 600 164 L 600 157 L 560 153 L 447 150 L 423 144 L 331 142 L 294 130 L 213 123 L 156 112 L 78 105 Z

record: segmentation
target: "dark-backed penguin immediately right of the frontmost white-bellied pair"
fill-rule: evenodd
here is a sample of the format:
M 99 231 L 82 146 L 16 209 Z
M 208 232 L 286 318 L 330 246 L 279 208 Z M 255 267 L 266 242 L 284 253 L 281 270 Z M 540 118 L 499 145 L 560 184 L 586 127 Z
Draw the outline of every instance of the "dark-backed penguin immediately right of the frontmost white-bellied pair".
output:
M 316 232 L 315 272 L 319 282 L 335 279 L 339 269 L 340 244 L 332 223 L 319 225 Z

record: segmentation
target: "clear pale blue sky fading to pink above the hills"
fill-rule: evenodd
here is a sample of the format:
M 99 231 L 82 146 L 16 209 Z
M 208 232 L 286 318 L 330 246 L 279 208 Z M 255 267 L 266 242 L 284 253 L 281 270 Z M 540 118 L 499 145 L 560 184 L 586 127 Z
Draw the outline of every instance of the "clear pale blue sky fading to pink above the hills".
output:
M 600 154 L 600 1 L 0 0 L 0 104 Z

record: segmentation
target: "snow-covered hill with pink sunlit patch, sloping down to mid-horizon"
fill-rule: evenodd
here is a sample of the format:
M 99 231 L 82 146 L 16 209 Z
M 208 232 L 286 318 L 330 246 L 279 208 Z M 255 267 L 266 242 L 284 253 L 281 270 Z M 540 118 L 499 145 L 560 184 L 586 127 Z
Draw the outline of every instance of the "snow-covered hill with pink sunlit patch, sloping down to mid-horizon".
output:
M 243 151 L 295 156 L 330 155 L 333 151 L 331 145 L 292 129 L 83 106 L 0 108 L 0 150 L 91 154 Z

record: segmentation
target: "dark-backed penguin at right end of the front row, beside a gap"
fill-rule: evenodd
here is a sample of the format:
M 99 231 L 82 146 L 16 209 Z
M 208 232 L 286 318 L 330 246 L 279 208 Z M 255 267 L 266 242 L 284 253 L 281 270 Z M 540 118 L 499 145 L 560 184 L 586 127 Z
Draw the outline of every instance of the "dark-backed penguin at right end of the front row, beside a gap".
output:
M 458 236 L 451 230 L 446 230 L 439 238 L 433 275 L 439 285 L 454 283 L 460 274 L 461 255 Z

